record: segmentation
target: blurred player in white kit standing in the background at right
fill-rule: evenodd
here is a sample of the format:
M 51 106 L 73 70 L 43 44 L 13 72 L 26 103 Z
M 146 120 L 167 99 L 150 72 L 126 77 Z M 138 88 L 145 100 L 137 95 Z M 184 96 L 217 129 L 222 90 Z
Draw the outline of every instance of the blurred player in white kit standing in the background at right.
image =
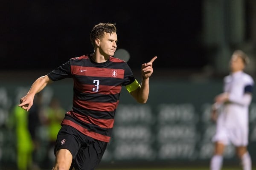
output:
M 249 59 L 241 50 L 236 50 L 230 59 L 230 75 L 224 77 L 224 93 L 215 97 L 212 119 L 217 123 L 214 155 L 211 170 L 222 167 L 224 148 L 230 142 L 236 147 L 243 170 L 251 170 L 251 159 L 247 151 L 249 133 L 249 105 L 252 100 L 253 78 L 244 73 Z M 217 116 L 217 113 L 219 115 Z

